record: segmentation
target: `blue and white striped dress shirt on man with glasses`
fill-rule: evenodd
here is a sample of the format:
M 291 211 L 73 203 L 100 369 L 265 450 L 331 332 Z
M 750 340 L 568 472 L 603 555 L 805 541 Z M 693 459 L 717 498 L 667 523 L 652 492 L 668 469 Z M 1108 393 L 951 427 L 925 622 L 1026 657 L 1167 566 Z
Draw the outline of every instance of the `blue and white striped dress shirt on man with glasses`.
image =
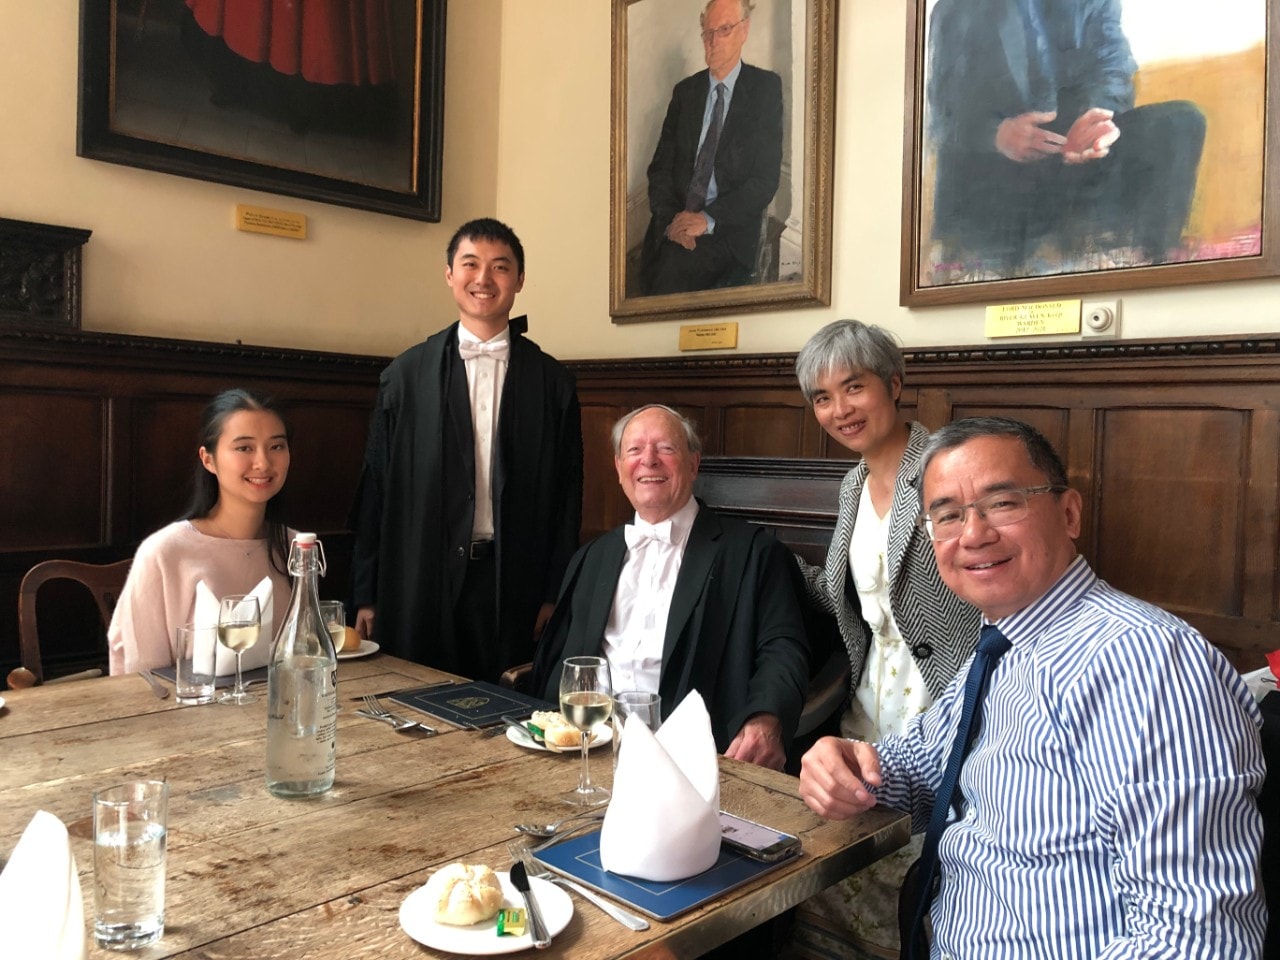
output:
M 998 626 L 1012 648 L 938 847 L 933 957 L 1261 956 L 1261 716 L 1235 669 L 1082 557 Z M 915 831 L 966 672 L 877 745 L 879 803 Z

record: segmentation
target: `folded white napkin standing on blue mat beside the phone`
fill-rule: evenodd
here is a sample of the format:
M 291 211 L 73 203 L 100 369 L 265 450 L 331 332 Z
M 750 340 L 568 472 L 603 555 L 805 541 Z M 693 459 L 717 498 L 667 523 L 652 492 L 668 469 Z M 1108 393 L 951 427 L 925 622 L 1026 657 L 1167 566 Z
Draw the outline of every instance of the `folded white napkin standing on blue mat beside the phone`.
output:
M 628 717 L 600 864 L 626 877 L 684 879 L 716 863 L 719 838 L 719 759 L 703 698 L 691 691 L 657 733 Z

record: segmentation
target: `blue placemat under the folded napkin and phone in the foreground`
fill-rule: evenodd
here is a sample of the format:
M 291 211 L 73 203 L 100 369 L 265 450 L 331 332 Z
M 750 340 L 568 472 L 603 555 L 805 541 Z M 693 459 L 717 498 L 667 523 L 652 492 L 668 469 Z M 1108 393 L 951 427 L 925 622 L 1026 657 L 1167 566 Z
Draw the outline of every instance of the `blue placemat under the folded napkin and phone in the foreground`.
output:
M 605 870 L 600 865 L 599 831 L 549 846 L 538 851 L 536 856 L 556 873 L 572 877 L 600 893 L 630 904 L 655 920 L 678 916 L 795 859 L 762 863 L 722 846 L 719 859 L 701 873 L 687 879 L 657 883 Z

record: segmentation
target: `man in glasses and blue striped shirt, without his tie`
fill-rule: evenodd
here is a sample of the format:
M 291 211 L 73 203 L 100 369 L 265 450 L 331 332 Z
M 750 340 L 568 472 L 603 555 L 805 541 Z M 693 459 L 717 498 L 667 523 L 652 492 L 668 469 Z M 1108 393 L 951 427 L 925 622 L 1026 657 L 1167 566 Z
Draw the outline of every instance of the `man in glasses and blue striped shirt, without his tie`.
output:
M 1261 717 L 1239 675 L 1076 556 L 1080 495 L 1038 431 L 957 421 L 923 462 L 942 580 L 1012 644 L 938 845 L 932 956 L 1261 956 Z M 961 673 L 901 737 L 823 739 L 801 796 L 923 831 L 963 696 Z

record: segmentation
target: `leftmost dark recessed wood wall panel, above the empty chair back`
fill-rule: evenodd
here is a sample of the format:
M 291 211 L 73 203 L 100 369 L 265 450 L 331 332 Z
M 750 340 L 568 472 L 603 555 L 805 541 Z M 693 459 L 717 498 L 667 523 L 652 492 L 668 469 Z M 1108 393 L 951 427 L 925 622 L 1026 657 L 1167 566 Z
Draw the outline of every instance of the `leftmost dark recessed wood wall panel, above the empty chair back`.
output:
M 102 543 L 105 403 L 0 390 L 0 549 Z

